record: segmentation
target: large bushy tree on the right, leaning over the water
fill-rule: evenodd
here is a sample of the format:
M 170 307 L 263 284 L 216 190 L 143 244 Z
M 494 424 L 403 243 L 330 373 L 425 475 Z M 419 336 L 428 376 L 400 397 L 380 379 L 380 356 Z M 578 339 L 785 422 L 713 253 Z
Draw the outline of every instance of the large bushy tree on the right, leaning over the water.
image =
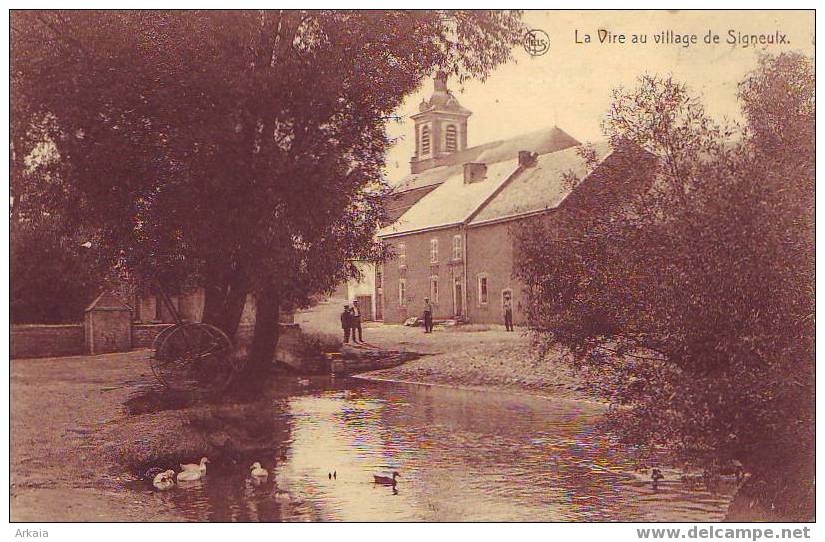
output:
M 710 471 L 741 461 L 774 519 L 813 513 L 813 89 L 809 59 L 763 58 L 734 133 L 642 77 L 604 128 L 656 157 L 649 189 L 520 236 L 536 337 L 622 406 L 619 433 Z

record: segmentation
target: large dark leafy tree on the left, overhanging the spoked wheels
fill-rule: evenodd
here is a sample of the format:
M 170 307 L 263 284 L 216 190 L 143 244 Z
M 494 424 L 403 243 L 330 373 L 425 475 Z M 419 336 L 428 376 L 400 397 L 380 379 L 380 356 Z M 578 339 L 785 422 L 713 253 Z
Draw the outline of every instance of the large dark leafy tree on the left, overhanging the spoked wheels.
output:
M 280 307 L 374 256 L 393 111 L 521 34 L 515 12 L 14 12 L 14 190 L 137 276 L 203 286 L 230 334 L 253 293 L 266 362 Z

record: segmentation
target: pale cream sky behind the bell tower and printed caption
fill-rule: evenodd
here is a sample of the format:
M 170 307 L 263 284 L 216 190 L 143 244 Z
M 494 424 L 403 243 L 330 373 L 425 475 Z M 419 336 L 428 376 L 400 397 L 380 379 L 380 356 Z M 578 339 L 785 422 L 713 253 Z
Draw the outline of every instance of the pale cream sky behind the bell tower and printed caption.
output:
M 580 141 L 603 139 L 600 119 L 610 105 L 612 89 L 633 87 L 644 73 L 672 74 L 702 97 L 713 117 L 738 120 L 737 84 L 756 67 L 760 53 L 814 55 L 813 11 L 528 11 L 524 20 L 550 37 L 547 53 L 530 56 L 517 47 L 514 61 L 499 66 L 486 82 L 468 81 L 463 88 L 448 82 L 461 105 L 473 111 L 468 146 L 554 124 Z M 623 33 L 626 42 L 600 43 L 599 29 Z M 697 43 L 685 47 L 654 42 L 656 34 L 668 31 L 695 34 Z M 704 43 L 708 32 L 719 36 L 718 44 Z M 745 47 L 736 40 L 739 34 L 776 32 L 788 43 Z M 590 43 L 584 42 L 585 34 Z M 633 34 L 646 35 L 647 43 L 630 43 Z M 582 43 L 576 43 L 577 35 Z M 729 44 L 729 39 L 736 42 Z M 432 80 L 427 79 L 396 111 L 401 121 L 388 127 L 390 135 L 399 138 L 387 156 L 392 183 L 410 171 L 414 123 L 409 116 L 431 94 Z

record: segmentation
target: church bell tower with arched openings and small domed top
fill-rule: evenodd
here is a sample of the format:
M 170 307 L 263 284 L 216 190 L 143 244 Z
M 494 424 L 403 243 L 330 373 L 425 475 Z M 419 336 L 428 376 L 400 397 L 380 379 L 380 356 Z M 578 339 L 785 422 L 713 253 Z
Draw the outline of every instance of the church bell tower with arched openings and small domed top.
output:
M 440 71 L 433 79 L 433 94 L 412 115 L 415 121 L 415 154 L 410 160 L 412 173 L 419 173 L 447 162 L 445 158 L 467 148 L 467 118 L 472 112 L 458 103 L 447 88 L 447 74 Z

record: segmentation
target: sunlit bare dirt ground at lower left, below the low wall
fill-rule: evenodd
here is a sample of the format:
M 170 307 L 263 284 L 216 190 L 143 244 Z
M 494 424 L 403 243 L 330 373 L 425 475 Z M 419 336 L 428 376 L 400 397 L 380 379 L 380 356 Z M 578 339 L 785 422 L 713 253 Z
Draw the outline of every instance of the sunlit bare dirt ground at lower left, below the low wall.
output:
M 168 521 L 149 492 L 126 491 L 97 429 L 153 378 L 147 351 L 11 362 L 11 520 Z

